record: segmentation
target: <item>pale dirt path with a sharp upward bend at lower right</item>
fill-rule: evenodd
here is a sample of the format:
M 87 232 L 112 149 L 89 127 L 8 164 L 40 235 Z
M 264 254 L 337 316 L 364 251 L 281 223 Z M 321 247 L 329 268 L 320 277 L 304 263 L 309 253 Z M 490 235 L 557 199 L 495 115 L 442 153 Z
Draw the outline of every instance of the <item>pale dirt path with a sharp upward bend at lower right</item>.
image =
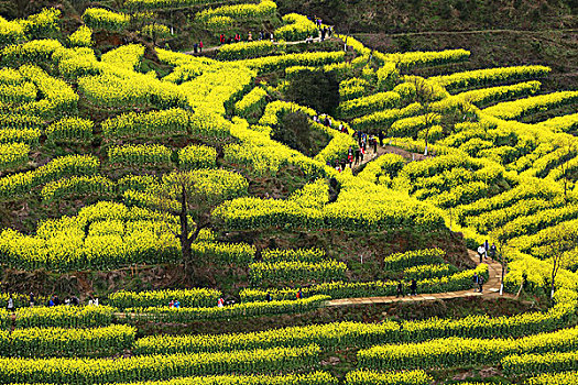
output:
M 468 250 L 469 257 L 479 264 L 478 253 Z M 331 299 L 326 302 L 327 307 L 335 306 L 356 306 L 356 305 L 371 305 L 371 304 L 391 304 L 391 302 L 414 302 L 423 300 L 436 300 L 436 299 L 450 299 L 450 298 L 467 298 L 467 297 L 486 297 L 495 298 L 500 296 L 500 283 L 502 280 L 502 265 L 491 258 L 483 261 L 488 265 L 489 279 L 483 284 L 483 292 L 477 293 L 472 289 L 460 290 L 460 292 L 448 292 L 448 293 L 435 293 L 435 294 L 418 294 L 416 296 L 404 296 L 404 297 L 363 297 L 363 298 L 342 298 Z M 503 294 L 502 297 L 515 298 L 512 294 Z

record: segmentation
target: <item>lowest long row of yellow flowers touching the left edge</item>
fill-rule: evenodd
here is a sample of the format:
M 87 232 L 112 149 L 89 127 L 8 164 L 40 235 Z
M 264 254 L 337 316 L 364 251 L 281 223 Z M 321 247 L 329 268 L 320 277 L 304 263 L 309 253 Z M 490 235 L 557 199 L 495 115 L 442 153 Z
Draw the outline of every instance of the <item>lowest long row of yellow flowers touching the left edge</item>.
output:
M 0 359 L 6 383 L 119 383 L 228 374 L 287 373 L 318 362 L 317 345 L 230 353 L 148 355 L 109 359 Z

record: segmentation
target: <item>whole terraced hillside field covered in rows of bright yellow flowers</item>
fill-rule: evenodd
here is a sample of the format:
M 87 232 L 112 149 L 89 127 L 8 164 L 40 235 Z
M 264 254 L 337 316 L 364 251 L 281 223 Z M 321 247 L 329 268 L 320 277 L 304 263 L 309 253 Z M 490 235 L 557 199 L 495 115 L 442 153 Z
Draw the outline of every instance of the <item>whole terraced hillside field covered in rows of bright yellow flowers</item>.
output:
M 452 72 L 467 50 L 382 53 L 340 31 L 321 42 L 329 26 L 269 0 L 97 3 L 72 31 L 66 10 L 0 19 L 0 262 L 176 265 L 184 282 L 117 288 L 100 306 L 3 293 L 15 309 L 0 311 L 0 384 L 576 382 L 578 90 L 542 94 L 539 64 Z M 204 53 L 166 46 L 174 31 L 155 14 L 173 11 L 211 36 Z M 243 29 L 253 41 L 218 45 Z M 424 67 L 439 75 L 416 76 Z M 291 244 L 312 234 L 454 237 L 461 251 L 368 245 L 363 262 Z M 467 249 L 487 240 L 492 258 L 472 262 Z M 478 277 L 492 297 L 547 309 L 228 327 L 466 296 Z M 400 289 L 418 297 L 390 298 Z M 225 297 L 237 304 L 217 306 Z M 199 322 L 219 332 L 186 329 Z

